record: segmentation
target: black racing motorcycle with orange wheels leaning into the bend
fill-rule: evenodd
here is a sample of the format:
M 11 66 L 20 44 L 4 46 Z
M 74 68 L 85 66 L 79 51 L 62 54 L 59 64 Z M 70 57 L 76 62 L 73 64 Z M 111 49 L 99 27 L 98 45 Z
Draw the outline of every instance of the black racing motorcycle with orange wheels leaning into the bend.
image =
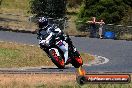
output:
M 69 35 L 59 35 L 59 36 L 53 36 L 51 34 L 48 34 L 47 32 L 41 31 L 41 35 L 37 37 L 37 39 L 45 40 L 47 37 L 50 39 L 50 42 L 48 44 L 40 45 L 40 48 L 43 49 L 49 58 L 51 58 L 52 62 L 60 69 L 65 68 L 65 65 L 72 64 L 75 68 L 79 68 L 82 66 L 83 61 L 82 58 L 77 51 L 77 49 L 74 47 Z M 51 37 L 51 38 L 50 38 Z M 63 44 L 63 41 L 68 43 L 68 60 L 65 63 L 64 59 L 64 53 L 63 51 L 56 45 L 56 44 Z

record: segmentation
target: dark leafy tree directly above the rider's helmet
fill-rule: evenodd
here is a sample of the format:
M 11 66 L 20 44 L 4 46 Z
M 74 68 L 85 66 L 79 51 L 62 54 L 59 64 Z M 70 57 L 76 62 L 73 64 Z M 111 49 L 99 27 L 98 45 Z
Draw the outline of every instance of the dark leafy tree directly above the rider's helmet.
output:
M 31 0 L 31 13 L 50 18 L 62 18 L 66 13 L 66 0 Z

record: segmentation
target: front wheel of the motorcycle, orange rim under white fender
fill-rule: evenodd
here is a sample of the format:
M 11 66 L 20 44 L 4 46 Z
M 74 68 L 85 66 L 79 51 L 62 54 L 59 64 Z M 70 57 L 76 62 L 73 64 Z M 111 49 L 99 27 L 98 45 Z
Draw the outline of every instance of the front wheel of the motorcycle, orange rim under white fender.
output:
M 59 52 L 57 49 L 52 48 L 49 50 L 49 55 L 51 57 L 52 62 L 60 69 L 65 68 L 64 59 L 61 57 L 61 55 L 58 55 Z

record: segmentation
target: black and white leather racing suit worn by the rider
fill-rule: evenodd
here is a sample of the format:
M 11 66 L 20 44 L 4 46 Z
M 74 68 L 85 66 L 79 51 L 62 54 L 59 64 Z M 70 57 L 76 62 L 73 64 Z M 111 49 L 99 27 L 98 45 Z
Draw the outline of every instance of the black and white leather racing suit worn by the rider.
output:
M 42 45 L 48 45 L 50 43 L 50 41 L 52 41 L 52 36 L 62 36 L 63 32 L 60 30 L 60 28 L 58 28 L 57 26 L 54 26 L 54 25 L 47 25 L 46 27 L 40 29 L 39 31 L 39 34 L 45 34 L 45 33 L 41 33 L 42 31 L 41 30 L 44 30 L 43 32 L 45 33 L 48 33 L 49 36 L 46 37 L 44 40 L 39 40 L 39 44 L 42 44 Z M 64 58 L 65 58 L 65 63 L 67 62 L 68 60 L 68 43 L 66 43 L 64 40 L 62 40 L 62 44 L 59 44 L 59 43 L 56 43 L 56 45 L 63 51 L 64 53 Z

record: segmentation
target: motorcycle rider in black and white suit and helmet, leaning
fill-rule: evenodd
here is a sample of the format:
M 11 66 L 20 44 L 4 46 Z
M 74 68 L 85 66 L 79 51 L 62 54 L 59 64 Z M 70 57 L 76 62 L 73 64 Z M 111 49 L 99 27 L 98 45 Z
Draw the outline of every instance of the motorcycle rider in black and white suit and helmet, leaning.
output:
M 58 28 L 54 24 L 50 25 L 49 21 L 46 17 L 39 18 L 38 26 L 39 26 L 38 35 L 43 35 L 43 34 L 45 34 L 44 32 L 46 32 L 50 35 L 47 38 L 45 38 L 44 40 L 39 40 L 39 44 L 41 44 L 41 45 L 48 45 L 52 41 L 51 38 L 53 36 L 56 36 L 56 37 L 63 36 L 64 37 L 64 39 L 62 39 L 63 43 L 62 44 L 56 43 L 56 45 L 63 51 L 65 63 L 66 63 L 68 60 L 68 43 L 65 42 L 66 37 L 64 36 L 63 31 L 60 30 L 60 28 Z M 43 33 L 41 33 L 42 30 L 44 31 Z

